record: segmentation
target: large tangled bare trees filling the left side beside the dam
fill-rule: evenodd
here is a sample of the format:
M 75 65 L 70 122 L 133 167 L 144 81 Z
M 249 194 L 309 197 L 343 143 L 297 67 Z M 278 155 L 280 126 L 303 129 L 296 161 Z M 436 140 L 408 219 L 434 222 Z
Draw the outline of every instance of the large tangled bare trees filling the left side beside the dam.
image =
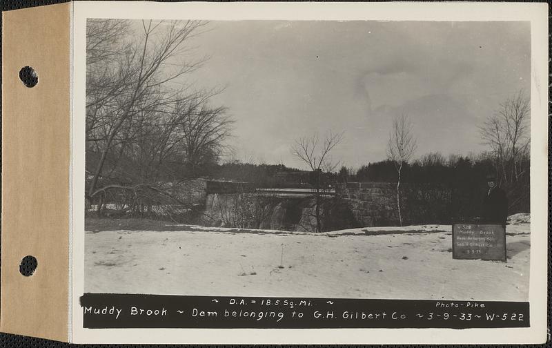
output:
M 188 58 L 205 24 L 141 21 L 133 32 L 129 21 L 87 21 L 86 197 L 99 213 L 108 198 L 132 211 L 181 204 L 170 191 L 186 164 L 219 155 L 232 123 L 210 106 L 219 91 L 182 79 L 205 61 Z

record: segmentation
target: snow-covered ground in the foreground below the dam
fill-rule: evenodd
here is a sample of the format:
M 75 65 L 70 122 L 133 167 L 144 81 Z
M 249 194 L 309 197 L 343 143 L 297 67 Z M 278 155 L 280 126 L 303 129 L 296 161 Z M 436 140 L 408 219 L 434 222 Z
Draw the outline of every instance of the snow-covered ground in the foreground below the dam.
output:
M 453 260 L 451 226 L 328 233 L 86 232 L 85 291 L 526 301 L 529 224 L 506 229 L 508 262 Z

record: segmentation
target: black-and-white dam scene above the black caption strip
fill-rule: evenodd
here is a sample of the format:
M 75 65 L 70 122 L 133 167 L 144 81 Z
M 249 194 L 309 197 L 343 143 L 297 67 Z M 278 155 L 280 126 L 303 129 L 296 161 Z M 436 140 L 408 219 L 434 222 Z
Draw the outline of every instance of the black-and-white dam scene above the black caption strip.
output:
M 89 18 L 84 291 L 528 301 L 530 100 L 528 21 Z

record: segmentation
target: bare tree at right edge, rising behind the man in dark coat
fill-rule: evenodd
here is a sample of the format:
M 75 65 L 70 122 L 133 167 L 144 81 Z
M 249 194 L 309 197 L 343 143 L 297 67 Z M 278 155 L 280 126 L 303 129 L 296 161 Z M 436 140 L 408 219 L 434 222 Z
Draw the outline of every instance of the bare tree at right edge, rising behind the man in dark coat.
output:
M 484 144 L 491 147 L 495 157 L 497 177 L 503 184 L 520 180 L 528 167 L 522 160 L 529 155 L 529 98 L 520 90 L 517 95 L 506 99 L 498 110 L 480 126 Z

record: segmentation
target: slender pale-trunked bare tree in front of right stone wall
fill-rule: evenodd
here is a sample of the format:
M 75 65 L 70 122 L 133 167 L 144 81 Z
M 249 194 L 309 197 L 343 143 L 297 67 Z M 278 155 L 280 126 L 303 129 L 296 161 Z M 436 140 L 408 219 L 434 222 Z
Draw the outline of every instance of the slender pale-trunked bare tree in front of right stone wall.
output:
M 400 204 L 400 185 L 401 173 L 404 164 L 412 159 L 412 155 L 417 147 L 416 139 L 412 134 L 412 124 L 406 115 L 401 115 L 393 119 L 393 128 L 389 134 L 387 143 L 387 156 L 395 164 L 397 170 L 397 212 L 399 222 L 402 226 L 402 214 Z

